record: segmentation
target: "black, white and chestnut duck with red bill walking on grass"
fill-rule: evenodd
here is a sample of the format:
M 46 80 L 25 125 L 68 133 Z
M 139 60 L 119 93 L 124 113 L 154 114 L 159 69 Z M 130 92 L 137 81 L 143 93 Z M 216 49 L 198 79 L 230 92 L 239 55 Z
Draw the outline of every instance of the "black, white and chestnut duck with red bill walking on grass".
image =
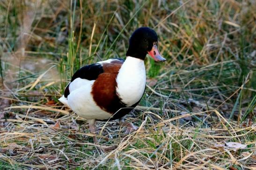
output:
M 139 27 L 129 39 L 126 58 L 114 58 L 89 64 L 77 70 L 59 101 L 87 119 L 91 133 L 95 121 L 119 119 L 126 133 L 137 130 L 124 116 L 134 109 L 146 89 L 144 60 L 149 54 L 155 61 L 166 61 L 157 48 L 158 37 L 149 27 Z M 97 143 L 96 136 L 93 137 Z

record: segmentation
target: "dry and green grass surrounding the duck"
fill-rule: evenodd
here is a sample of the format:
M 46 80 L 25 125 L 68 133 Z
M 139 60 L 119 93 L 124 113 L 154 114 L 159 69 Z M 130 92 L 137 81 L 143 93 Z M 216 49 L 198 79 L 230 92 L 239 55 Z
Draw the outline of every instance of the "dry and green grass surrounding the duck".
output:
M 256 169 L 255 0 L 0 0 L 0 170 Z M 124 58 L 138 27 L 167 58 L 146 58 L 129 116 L 86 120 L 58 102 L 74 71 Z M 104 127 L 104 128 L 102 128 Z

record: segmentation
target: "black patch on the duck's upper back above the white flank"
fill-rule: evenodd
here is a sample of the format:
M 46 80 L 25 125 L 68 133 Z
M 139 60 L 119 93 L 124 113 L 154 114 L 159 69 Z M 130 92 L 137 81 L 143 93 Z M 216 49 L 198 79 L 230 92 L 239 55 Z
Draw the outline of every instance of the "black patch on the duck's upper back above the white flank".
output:
M 86 65 L 75 72 L 75 74 L 72 76 L 71 82 L 73 82 L 76 78 L 96 80 L 98 75 L 102 74 L 103 72 L 104 71 L 100 63 Z

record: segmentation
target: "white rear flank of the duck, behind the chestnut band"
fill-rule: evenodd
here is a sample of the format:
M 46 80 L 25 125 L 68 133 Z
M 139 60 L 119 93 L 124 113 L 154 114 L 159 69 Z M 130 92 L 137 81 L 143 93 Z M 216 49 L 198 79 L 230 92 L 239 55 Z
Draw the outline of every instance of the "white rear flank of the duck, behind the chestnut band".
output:
M 85 119 L 109 119 L 112 115 L 102 110 L 91 94 L 95 80 L 76 78 L 69 85 L 70 94 L 67 96 L 67 105 L 79 116 Z

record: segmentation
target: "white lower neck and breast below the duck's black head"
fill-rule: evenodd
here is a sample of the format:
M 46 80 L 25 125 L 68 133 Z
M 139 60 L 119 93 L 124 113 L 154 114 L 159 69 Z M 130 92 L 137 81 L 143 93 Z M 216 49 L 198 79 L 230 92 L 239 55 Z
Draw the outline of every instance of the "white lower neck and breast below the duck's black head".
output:
M 132 106 L 140 100 L 146 86 L 144 61 L 127 56 L 117 75 L 117 94 L 121 101 Z

